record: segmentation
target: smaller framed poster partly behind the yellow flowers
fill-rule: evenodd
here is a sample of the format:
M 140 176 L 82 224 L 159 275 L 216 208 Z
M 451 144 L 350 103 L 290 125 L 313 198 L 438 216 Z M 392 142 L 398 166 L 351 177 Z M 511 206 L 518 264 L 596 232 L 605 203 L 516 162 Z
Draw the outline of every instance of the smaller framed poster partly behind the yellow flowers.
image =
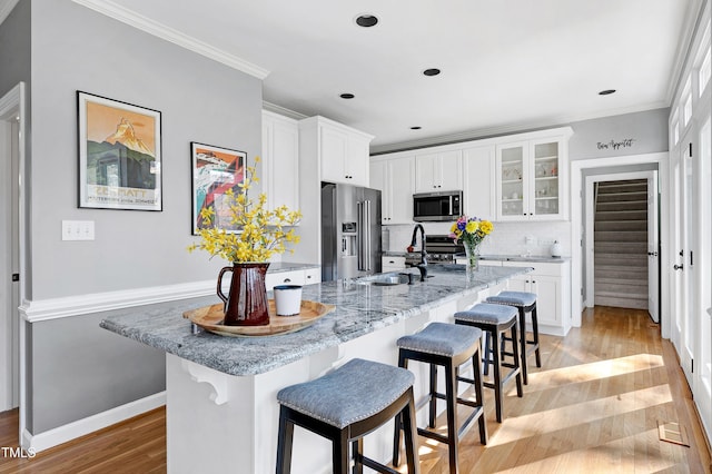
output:
M 190 144 L 192 157 L 192 234 L 206 228 L 200 211 L 212 208 L 215 226 L 229 230 L 239 230 L 230 223 L 230 210 L 225 203 L 228 189 L 237 195 L 238 185 L 245 180 L 247 154 L 210 145 Z

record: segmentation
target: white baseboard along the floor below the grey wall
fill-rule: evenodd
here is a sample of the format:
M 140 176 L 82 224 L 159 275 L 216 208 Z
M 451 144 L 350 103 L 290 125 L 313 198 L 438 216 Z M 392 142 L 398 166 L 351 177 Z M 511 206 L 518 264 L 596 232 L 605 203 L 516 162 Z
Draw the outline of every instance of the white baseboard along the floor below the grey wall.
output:
M 58 446 L 68 441 L 76 440 L 80 436 L 93 433 L 98 429 L 106 428 L 125 419 L 150 412 L 166 404 L 166 392 L 147 396 L 126 405 L 106 412 L 97 413 L 83 419 L 58 426 L 44 433 L 31 434 L 27 429 L 22 433 L 22 448 L 34 450 L 36 453 Z

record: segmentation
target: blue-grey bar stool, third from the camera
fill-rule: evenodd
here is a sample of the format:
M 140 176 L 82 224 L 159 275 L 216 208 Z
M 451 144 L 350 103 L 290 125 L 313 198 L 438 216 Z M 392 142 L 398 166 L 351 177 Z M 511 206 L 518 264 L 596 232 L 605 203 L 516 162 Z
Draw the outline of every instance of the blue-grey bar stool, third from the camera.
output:
M 522 369 L 520 363 L 518 345 L 514 343 L 517 339 L 517 312 L 513 306 L 495 305 L 490 303 L 479 303 L 465 312 L 455 313 L 455 324 L 475 326 L 488 334 L 492 340 L 493 358 L 485 354 L 483 362 L 492 364 L 494 369 L 494 383 L 483 382 L 487 388 L 494 388 L 495 413 L 498 423 L 502 423 L 502 392 L 504 385 L 512 378 L 516 381 L 516 395 L 521 398 L 522 393 Z M 501 347 L 500 342 L 506 334 L 511 332 L 512 352 L 508 353 Z M 512 363 L 504 361 L 505 356 L 512 357 Z M 502 377 L 502 367 L 508 368 L 510 372 Z

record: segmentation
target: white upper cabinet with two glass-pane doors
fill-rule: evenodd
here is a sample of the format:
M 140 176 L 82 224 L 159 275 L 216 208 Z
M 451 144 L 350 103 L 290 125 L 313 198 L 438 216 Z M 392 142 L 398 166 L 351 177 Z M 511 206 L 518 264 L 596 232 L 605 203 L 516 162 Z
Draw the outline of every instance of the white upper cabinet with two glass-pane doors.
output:
M 567 138 L 561 135 L 497 145 L 497 220 L 568 218 Z

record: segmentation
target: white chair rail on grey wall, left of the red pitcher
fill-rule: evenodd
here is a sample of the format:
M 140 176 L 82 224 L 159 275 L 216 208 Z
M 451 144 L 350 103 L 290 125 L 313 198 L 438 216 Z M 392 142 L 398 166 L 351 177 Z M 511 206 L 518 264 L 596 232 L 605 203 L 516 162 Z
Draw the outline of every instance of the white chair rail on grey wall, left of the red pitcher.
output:
M 23 300 L 20 314 L 28 323 L 110 312 L 177 299 L 215 295 L 215 280 L 182 283 L 41 300 Z

